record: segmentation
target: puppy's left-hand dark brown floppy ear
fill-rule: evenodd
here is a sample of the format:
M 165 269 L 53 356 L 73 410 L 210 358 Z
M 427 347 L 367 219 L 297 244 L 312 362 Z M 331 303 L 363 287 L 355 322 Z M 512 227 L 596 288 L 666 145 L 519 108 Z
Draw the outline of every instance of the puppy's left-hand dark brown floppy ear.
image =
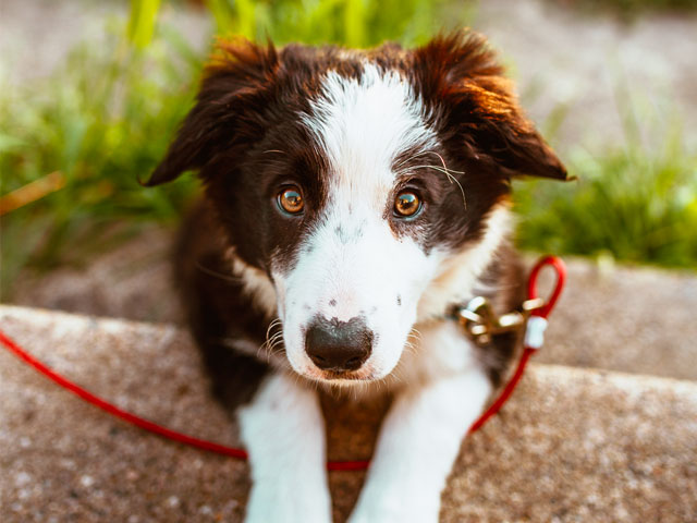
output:
M 182 123 L 167 155 L 145 186 L 170 182 L 184 171 L 201 170 L 221 150 L 245 139 L 245 124 L 258 120 L 255 108 L 265 106 L 279 69 L 269 41 L 261 47 L 247 40 L 220 40 L 204 72 L 194 108 Z M 248 137 L 248 136 L 247 136 Z

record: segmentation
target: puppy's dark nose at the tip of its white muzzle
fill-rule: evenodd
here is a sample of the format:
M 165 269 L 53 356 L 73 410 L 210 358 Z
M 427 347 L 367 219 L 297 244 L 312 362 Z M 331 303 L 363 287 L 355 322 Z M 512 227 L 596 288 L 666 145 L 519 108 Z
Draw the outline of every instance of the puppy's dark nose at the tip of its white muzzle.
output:
M 305 351 L 325 370 L 356 370 L 370 355 L 372 332 L 365 319 L 316 318 L 305 335 Z

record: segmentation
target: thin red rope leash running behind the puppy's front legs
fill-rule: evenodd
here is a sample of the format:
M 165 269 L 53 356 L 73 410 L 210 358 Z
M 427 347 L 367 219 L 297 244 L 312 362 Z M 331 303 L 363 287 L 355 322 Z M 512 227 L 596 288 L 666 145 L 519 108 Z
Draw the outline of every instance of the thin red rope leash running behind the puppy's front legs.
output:
M 469 434 L 478 430 L 491 416 L 493 416 L 503 404 L 508 401 L 508 399 L 513 393 L 513 390 L 517 386 L 518 381 L 523 377 L 523 373 L 525 372 L 525 366 L 529 357 L 537 352 L 537 350 L 541 346 L 542 342 L 542 333 L 545 331 L 545 327 L 547 326 L 547 321 L 545 318 L 549 315 L 549 313 L 554 307 L 559 295 L 561 294 L 562 288 L 564 287 L 564 281 L 566 279 L 566 269 L 562 260 L 555 256 L 547 256 L 540 259 L 533 271 L 530 272 L 530 278 L 528 281 L 528 299 L 537 297 L 537 278 L 539 276 L 540 270 L 546 267 L 552 267 L 557 272 L 557 285 L 549 301 L 540 308 L 534 311 L 531 313 L 531 317 L 528 319 L 528 326 L 525 337 L 523 355 L 518 362 L 518 366 L 513 373 L 511 380 L 506 384 L 505 388 L 501 391 L 501 394 L 497 400 L 487 409 L 487 411 L 479 416 L 472 427 L 469 428 Z M 538 318 L 538 319 L 536 319 Z M 109 403 L 106 400 L 93 394 L 88 390 L 85 390 L 77 384 L 69 380 L 68 378 L 61 376 L 56 373 L 36 357 L 32 356 L 24 349 L 22 349 L 17 343 L 11 340 L 8 336 L 0 330 L 0 342 L 12 353 L 14 353 L 21 360 L 24 360 L 28 365 L 34 367 L 40 374 L 46 376 L 47 378 L 53 380 L 61 387 L 70 390 L 74 394 L 77 394 L 80 398 L 85 400 L 88 403 L 101 409 L 102 411 L 108 412 L 109 414 L 120 417 L 121 419 L 135 425 L 136 427 L 144 428 L 145 430 L 149 430 L 159 436 L 172 439 L 174 441 L 179 441 L 180 443 L 185 443 L 192 447 L 196 447 L 203 450 L 207 450 L 209 452 L 216 452 L 218 454 L 230 455 L 232 458 L 237 458 L 241 460 L 247 459 L 247 452 L 243 449 L 236 449 L 234 447 L 227 447 L 224 445 L 216 443 L 212 441 L 207 441 L 205 439 L 195 438 L 193 436 L 188 436 L 183 433 L 179 433 L 176 430 L 171 430 L 167 427 L 158 425 L 157 423 L 152 423 L 149 419 L 145 419 L 143 417 L 136 416 L 127 411 L 119 409 L 113 403 Z M 360 460 L 360 461 L 329 461 L 327 462 L 327 469 L 329 471 L 362 471 L 368 467 L 370 464 L 369 460 Z

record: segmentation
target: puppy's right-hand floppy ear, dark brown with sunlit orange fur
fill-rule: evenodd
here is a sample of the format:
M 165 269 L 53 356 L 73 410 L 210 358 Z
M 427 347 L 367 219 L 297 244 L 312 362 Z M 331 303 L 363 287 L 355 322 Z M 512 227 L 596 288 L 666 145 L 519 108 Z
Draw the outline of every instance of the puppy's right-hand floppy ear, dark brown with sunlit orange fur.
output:
M 506 175 L 567 180 L 566 169 L 524 115 L 486 39 L 472 32 L 437 37 L 415 51 L 420 90 L 442 107 L 463 151 Z

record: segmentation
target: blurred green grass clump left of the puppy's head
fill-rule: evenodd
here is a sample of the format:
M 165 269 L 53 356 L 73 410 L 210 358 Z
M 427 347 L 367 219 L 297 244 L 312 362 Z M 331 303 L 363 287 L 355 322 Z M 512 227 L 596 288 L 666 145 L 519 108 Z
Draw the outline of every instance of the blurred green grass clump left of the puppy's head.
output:
M 20 268 L 78 260 L 113 241 L 110 224 L 167 221 L 191 193 L 187 180 L 146 191 L 136 177 L 191 106 L 200 57 L 172 32 L 144 50 L 122 35 L 111 24 L 102 45 L 78 46 L 47 81 L 1 86 L 1 194 L 53 172 L 64 183 L 2 217 L 2 296 Z

